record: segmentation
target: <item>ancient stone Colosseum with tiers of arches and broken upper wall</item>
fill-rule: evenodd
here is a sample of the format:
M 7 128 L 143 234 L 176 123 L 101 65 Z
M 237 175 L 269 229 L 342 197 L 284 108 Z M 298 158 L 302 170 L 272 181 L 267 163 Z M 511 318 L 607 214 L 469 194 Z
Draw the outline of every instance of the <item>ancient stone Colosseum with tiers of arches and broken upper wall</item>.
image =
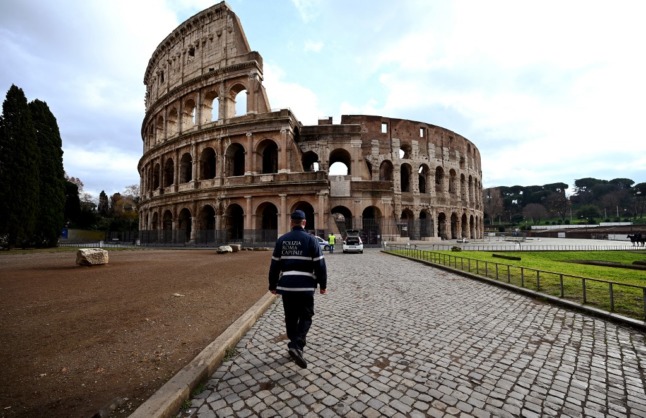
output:
M 303 125 L 274 110 L 263 59 L 225 2 L 164 39 L 144 76 L 143 244 L 274 242 L 301 209 L 319 236 L 481 238 L 480 152 L 439 126 L 343 115 Z

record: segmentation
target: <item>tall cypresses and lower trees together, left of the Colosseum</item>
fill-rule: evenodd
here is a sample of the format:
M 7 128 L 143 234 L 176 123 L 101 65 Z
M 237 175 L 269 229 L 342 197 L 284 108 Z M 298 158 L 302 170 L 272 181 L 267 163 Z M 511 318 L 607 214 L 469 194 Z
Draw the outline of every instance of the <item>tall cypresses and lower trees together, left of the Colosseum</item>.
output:
M 68 177 L 56 117 L 12 85 L 0 115 L 0 247 L 52 247 L 65 227 L 136 229 L 139 190 L 129 186 L 95 204 Z

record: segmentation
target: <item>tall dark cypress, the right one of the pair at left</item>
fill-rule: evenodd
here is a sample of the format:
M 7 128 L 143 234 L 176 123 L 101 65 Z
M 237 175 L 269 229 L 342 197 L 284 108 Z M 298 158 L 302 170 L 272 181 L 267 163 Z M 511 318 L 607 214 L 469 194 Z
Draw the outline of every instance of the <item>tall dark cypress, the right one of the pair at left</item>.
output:
M 35 230 L 35 240 L 53 247 L 58 242 L 65 223 L 65 170 L 63 168 L 63 142 L 56 118 L 47 103 L 34 100 L 29 103 L 40 148 L 40 210 Z

